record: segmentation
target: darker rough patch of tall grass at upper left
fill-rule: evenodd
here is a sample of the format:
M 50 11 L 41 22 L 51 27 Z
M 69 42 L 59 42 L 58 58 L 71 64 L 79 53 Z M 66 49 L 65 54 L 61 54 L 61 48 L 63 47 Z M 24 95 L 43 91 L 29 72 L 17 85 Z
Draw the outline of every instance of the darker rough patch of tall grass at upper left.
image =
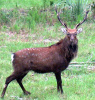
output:
M 50 14 L 41 12 L 37 7 L 31 9 L 13 9 L 9 11 L 0 11 L 0 24 L 9 26 L 10 31 L 19 33 L 23 29 L 33 30 L 36 24 L 50 21 Z

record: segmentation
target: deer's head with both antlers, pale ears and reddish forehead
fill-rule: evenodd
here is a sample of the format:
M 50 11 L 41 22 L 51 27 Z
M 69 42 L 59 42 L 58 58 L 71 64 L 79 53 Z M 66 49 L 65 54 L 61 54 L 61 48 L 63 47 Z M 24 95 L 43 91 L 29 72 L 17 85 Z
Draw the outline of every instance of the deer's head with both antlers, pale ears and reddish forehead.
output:
M 76 39 L 76 35 L 82 32 L 82 28 L 79 28 L 79 29 L 78 29 L 78 27 L 79 27 L 82 23 L 84 23 L 84 22 L 86 21 L 86 19 L 87 19 L 87 14 L 88 14 L 89 11 L 86 11 L 84 20 L 83 20 L 82 22 L 80 22 L 79 24 L 77 24 L 77 25 L 75 26 L 74 29 L 68 28 L 68 27 L 67 27 L 67 24 L 66 24 L 66 23 L 63 23 L 63 22 L 61 21 L 61 19 L 60 19 L 60 13 L 58 13 L 56 6 L 55 6 L 55 11 L 56 11 L 56 13 L 57 13 L 57 18 L 58 18 L 58 20 L 59 20 L 60 23 L 65 27 L 65 28 L 62 28 L 62 29 L 61 29 L 62 32 L 65 33 L 65 34 L 67 35 L 68 39 L 69 39 L 71 42 L 74 42 L 74 40 Z

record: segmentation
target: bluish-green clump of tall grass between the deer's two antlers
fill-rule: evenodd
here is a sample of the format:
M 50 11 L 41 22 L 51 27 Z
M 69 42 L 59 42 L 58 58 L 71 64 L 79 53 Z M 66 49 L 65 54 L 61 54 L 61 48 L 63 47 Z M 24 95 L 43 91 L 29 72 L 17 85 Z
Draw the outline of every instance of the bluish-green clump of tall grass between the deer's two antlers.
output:
M 67 21 L 70 26 L 78 23 L 84 17 L 83 8 L 86 9 L 84 7 L 86 4 L 84 5 L 82 0 L 60 0 L 56 5 L 61 9 L 64 20 Z

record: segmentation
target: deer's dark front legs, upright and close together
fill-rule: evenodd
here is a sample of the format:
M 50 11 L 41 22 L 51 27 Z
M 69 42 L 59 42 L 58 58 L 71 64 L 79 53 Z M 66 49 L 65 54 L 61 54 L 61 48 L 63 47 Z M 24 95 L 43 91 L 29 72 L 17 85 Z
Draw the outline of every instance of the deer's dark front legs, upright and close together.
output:
M 61 94 L 63 93 L 62 89 L 62 80 L 61 80 L 61 72 L 55 73 L 55 77 L 57 80 L 57 91 L 61 91 Z

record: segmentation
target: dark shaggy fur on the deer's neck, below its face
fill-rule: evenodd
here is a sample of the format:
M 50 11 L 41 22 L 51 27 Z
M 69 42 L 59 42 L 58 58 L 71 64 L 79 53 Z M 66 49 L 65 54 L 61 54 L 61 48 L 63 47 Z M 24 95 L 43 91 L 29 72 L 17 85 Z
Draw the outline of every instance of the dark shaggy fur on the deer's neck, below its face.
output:
M 60 40 L 56 45 L 60 45 L 59 52 L 61 56 L 66 58 L 68 62 L 70 62 L 74 57 L 77 55 L 78 51 L 78 40 L 76 39 L 75 42 L 70 42 L 67 37 L 63 40 Z

